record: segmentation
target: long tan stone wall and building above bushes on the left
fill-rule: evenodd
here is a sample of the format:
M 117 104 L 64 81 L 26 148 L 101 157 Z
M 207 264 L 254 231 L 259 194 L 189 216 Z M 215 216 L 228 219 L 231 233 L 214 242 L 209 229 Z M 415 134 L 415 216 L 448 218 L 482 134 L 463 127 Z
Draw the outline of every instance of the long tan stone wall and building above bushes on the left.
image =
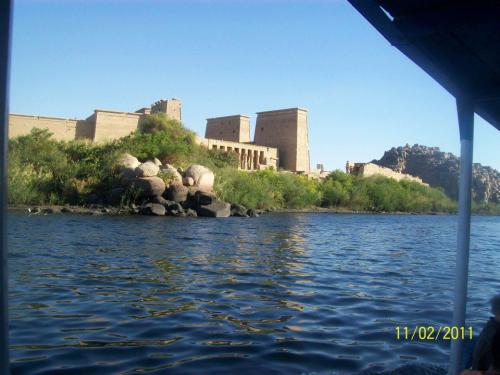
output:
M 9 114 L 9 138 L 29 134 L 31 129 L 48 129 L 53 138 L 61 141 L 88 139 L 93 142 L 106 142 L 125 137 L 135 131 L 144 115 L 163 112 L 170 118 L 181 121 L 181 102 L 179 99 L 160 100 L 150 108 L 136 112 L 96 109 L 85 120 L 57 117 Z

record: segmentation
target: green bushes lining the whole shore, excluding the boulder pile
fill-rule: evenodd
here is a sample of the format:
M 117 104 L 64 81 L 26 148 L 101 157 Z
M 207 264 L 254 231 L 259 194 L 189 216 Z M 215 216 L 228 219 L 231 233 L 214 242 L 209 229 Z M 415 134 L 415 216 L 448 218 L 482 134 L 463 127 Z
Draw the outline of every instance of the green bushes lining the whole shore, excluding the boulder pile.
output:
M 413 181 L 372 176 L 358 178 L 342 171 L 323 181 L 274 170 L 237 170 L 234 153 L 208 150 L 194 134 L 163 114 L 149 115 L 141 131 L 105 144 L 57 142 L 47 130 L 9 140 L 8 199 L 10 204 L 83 203 L 89 194 L 104 196 L 117 185 L 119 155 L 141 161 L 159 158 L 186 168 L 201 164 L 215 173 L 215 190 L 231 203 L 248 208 L 304 208 L 316 205 L 374 212 L 454 212 L 456 203 L 442 190 Z M 160 174 L 169 183 L 173 176 Z M 124 200 L 134 201 L 136 191 Z M 482 213 L 500 213 L 495 204 L 476 204 Z

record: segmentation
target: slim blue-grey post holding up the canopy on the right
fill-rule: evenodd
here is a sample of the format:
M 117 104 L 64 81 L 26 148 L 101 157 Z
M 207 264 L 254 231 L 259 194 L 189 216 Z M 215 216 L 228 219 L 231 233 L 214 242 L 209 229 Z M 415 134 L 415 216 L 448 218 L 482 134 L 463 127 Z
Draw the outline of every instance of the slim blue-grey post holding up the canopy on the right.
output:
M 474 144 L 474 102 L 470 98 L 457 98 L 460 128 L 460 177 L 458 193 L 457 255 L 455 271 L 455 300 L 453 327 L 465 327 L 467 282 L 469 278 L 469 245 L 471 217 L 472 154 Z M 463 341 L 451 341 L 448 375 L 462 371 Z

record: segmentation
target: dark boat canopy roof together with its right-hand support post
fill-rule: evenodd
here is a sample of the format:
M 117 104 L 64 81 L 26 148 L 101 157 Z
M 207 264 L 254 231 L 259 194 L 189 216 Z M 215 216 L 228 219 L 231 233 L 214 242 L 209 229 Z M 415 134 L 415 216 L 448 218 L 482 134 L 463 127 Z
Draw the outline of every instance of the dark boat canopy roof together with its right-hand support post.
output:
M 498 0 L 348 0 L 393 46 L 457 101 L 459 215 L 453 325 L 465 326 L 469 268 L 474 113 L 500 130 Z M 449 375 L 462 370 L 461 340 L 451 342 Z

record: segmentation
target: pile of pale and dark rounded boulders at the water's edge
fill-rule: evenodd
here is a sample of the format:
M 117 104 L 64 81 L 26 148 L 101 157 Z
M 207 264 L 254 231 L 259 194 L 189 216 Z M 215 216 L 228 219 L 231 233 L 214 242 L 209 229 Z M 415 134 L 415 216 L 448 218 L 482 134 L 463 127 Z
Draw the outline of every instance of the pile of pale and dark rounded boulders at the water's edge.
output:
M 140 203 L 129 202 L 133 213 L 191 217 L 258 216 L 253 210 L 218 199 L 213 191 L 215 175 L 202 165 L 194 164 L 183 171 L 173 165 L 162 165 L 156 158 L 141 163 L 136 157 L 125 154 L 120 158 L 119 166 L 122 186 L 109 190 L 106 201 L 111 205 L 121 204 L 124 194 L 134 191 Z

